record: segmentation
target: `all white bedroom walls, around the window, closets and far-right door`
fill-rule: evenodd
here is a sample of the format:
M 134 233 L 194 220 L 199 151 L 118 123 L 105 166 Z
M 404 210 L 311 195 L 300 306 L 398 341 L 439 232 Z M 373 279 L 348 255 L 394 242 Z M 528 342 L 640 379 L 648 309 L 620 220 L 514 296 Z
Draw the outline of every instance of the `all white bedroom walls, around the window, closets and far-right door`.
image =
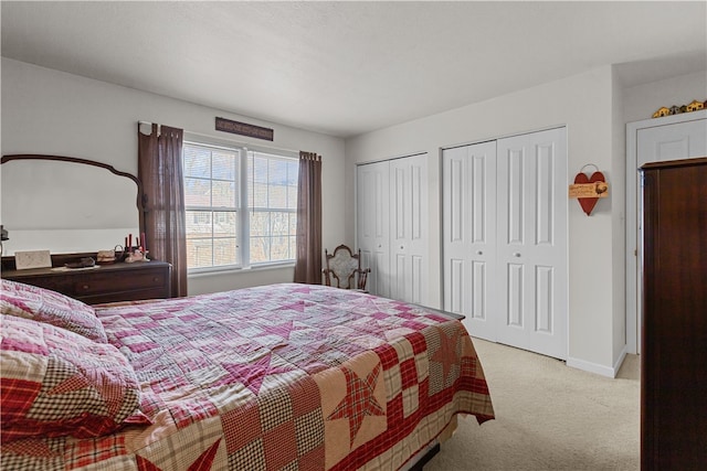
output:
M 568 181 L 583 164 L 594 163 L 611 184 L 611 196 L 601 200 L 590 217 L 570 203 L 568 363 L 611 374 L 625 345 L 624 125 L 650 117 L 663 105 L 707 98 L 706 76 L 700 72 L 623 89 L 612 67 L 605 66 L 351 138 L 345 147 L 338 138 L 2 58 L 1 150 L 83 157 L 137 173 L 136 121 L 146 120 L 245 144 L 316 151 L 324 156 L 325 247 L 355 244 L 356 163 L 428 152 L 432 260 L 428 299 L 441 307 L 441 148 L 566 125 Z M 274 128 L 275 141 L 217 132 L 215 116 Z M 17 196 L 3 193 L 2 197 Z M 292 271 L 192 277 L 189 292 L 289 281 Z

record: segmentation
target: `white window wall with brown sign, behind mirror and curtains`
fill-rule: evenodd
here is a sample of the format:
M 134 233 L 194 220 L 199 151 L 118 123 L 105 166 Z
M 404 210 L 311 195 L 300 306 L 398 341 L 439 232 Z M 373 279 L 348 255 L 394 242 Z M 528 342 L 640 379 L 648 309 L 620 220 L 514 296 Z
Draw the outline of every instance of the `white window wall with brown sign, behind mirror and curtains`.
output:
M 335 247 L 345 237 L 344 141 L 273 122 L 208 108 L 160 95 L 93 81 L 27 63 L 2 58 L 3 154 L 49 153 L 109 163 L 137 174 L 137 121 L 182 128 L 222 141 L 307 150 L 323 156 L 323 244 Z M 304 111 L 303 111 L 304 113 Z M 273 128 L 273 142 L 218 132 L 221 116 Z M 31 189 L 29 189 L 31 191 Z M 19 197 L 2 193 L 2 199 Z M 7 227 L 12 231 L 11 227 Z M 122 240 L 116 240 L 116 244 Z M 110 247 L 106 247 L 110 248 Z M 247 270 L 190 279 L 189 293 L 292 281 L 293 268 Z

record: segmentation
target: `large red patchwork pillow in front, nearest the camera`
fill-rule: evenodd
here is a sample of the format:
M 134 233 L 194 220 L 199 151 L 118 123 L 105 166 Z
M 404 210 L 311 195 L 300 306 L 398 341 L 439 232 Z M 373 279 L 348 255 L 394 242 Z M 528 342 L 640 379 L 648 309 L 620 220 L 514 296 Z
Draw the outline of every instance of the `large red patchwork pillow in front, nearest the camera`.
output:
M 98 437 L 139 416 L 139 384 L 108 343 L 31 319 L 0 315 L 2 442 Z

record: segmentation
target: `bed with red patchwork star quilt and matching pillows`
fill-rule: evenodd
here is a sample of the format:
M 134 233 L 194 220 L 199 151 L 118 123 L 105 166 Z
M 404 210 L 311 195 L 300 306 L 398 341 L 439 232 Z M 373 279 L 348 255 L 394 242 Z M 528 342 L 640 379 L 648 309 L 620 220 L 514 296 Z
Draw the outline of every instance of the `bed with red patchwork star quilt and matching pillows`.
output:
M 283 283 L 89 307 L 2 280 L 2 469 L 395 470 L 494 418 L 458 320 Z

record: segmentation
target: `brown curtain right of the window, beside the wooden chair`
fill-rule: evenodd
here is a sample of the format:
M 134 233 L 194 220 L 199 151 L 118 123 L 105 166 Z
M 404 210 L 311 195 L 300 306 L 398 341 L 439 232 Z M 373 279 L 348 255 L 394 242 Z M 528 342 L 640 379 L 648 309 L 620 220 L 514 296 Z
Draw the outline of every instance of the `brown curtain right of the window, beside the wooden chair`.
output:
M 321 156 L 299 152 L 295 282 L 321 283 Z

